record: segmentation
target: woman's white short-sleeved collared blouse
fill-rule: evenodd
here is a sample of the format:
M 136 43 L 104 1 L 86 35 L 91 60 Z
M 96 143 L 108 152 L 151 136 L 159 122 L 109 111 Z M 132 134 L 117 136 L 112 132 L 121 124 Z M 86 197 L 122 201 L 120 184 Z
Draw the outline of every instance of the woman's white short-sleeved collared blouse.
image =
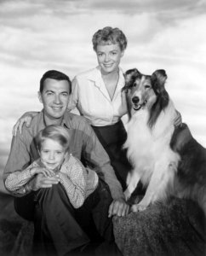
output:
M 72 81 L 72 96 L 68 108 L 78 111 L 89 120 L 90 125 L 113 125 L 127 113 L 123 72 L 119 69 L 119 79 L 111 100 L 101 77 L 100 67 L 77 75 Z

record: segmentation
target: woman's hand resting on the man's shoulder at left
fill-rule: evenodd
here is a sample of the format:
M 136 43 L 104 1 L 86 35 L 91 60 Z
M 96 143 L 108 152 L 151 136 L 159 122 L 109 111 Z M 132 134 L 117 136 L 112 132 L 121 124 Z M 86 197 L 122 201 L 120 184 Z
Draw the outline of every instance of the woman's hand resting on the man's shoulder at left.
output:
M 16 136 L 16 133 L 18 130 L 20 131 L 20 134 L 21 134 L 22 126 L 26 123 L 26 127 L 29 127 L 31 125 L 31 120 L 33 119 L 33 117 L 35 117 L 35 115 L 37 115 L 37 112 L 24 113 L 14 125 L 12 130 L 12 135 Z

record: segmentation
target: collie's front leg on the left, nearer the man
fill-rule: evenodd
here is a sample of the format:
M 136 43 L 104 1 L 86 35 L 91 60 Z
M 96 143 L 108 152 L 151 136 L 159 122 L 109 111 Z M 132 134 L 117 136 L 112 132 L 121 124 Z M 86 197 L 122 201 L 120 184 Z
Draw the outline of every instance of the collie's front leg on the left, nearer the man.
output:
M 140 175 L 137 173 L 137 171 L 133 170 L 132 172 L 129 172 L 127 177 L 128 187 L 123 192 L 126 201 L 129 200 L 130 196 L 134 192 L 134 189 L 136 189 L 136 186 L 139 183 L 139 181 L 140 181 Z

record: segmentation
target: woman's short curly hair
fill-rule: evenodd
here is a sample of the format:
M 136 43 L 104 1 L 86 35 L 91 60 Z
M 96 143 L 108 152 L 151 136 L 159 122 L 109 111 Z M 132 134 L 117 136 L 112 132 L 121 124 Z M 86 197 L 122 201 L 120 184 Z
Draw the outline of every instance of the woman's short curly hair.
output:
M 128 40 L 124 33 L 117 27 L 106 26 L 94 33 L 92 38 L 93 49 L 96 51 L 98 44 L 119 44 L 120 49 L 126 49 Z

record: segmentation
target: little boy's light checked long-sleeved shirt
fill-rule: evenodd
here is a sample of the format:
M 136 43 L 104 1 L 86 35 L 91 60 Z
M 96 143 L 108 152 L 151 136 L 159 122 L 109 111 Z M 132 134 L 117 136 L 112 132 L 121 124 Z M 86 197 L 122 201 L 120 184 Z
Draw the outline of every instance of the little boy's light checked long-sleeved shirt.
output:
M 43 167 L 40 159 L 32 162 L 23 171 L 16 171 L 6 178 L 5 187 L 14 193 L 23 193 L 22 186 L 28 183 L 33 176 L 31 176 L 31 169 L 34 167 Z M 76 157 L 69 155 L 63 164 L 59 167 L 58 175 L 60 183 L 66 189 L 66 194 L 74 208 L 81 207 L 85 199 L 94 192 L 98 184 L 98 176 L 96 172 L 86 169 Z M 54 172 L 55 175 L 55 172 Z

